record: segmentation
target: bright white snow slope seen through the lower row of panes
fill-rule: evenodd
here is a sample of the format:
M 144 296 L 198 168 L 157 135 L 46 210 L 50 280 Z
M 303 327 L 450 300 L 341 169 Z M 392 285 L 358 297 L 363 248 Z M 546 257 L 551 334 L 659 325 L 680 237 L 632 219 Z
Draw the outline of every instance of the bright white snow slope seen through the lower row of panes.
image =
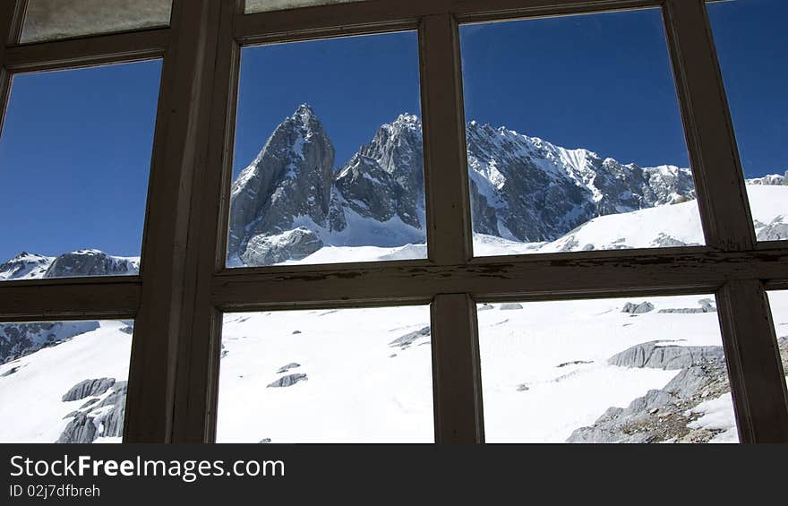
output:
M 664 387 L 677 371 L 606 360 L 652 340 L 720 345 L 715 313 L 658 313 L 698 307 L 702 298 L 529 303 L 521 309 L 480 305 L 487 441 L 562 442 L 608 407 L 626 407 L 647 390 Z M 777 334 L 788 336 L 788 293 L 770 298 Z M 645 300 L 654 311 L 621 313 L 626 302 Z M 433 441 L 430 338 L 416 334 L 411 344 L 392 346 L 428 325 L 424 306 L 227 314 L 218 441 Z M 64 416 L 86 400 L 63 402 L 66 391 L 85 379 L 125 380 L 131 336 L 123 326 L 100 322 L 98 330 L 0 365 L 0 442 L 56 441 L 69 422 Z M 292 374 L 306 379 L 268 387 Z M 693 410 L 691 424 L 712 428 L 713 442 L 735 441 L 729 396 Z

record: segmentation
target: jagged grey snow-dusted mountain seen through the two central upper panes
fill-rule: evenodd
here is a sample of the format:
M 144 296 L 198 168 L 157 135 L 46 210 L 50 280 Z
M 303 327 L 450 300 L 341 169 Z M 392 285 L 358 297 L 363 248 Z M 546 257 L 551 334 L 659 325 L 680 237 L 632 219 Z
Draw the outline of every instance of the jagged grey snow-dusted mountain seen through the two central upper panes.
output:
M 689 169 L 622 165 L 503 127 L 470 122 L 467 149 L 475 232 L 519 243 L 552 241 L 598 216 L 694 197 Z M 335 161 L 311 107 L 299 107 L 280 124 L 233 184 L 231 264 L 300 261 L 324 246 L 424 244 L 417 116 L 382 125 L 332 170 Z M 409 253 L 423 256 L 424 250 Z

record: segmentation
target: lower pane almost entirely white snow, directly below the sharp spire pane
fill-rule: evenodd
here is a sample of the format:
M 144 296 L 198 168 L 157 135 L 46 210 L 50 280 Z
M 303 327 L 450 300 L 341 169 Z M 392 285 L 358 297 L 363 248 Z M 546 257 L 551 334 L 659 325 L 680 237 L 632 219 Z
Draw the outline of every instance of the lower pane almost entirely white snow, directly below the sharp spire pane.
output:
M 434 442 L 430 308 L 226 314 L 218 442 Z

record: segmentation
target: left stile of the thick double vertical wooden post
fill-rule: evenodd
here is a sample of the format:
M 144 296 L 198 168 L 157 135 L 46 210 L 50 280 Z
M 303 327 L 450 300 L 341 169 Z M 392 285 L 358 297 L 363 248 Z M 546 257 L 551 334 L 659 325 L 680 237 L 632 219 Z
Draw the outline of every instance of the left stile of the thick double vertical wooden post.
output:
M 148 216 L 142 247 L 142 292 L 129 372 L 124 441 L 172 440 L 179 348 L 191 339 L 197 247 L 190 220 L 199 208 L 195 172 L 204 160 L 205 101 L 215 58 L 214 2 L 176 0 L 159 94 Z M 186 365 L 188 363 L 186 362 Z

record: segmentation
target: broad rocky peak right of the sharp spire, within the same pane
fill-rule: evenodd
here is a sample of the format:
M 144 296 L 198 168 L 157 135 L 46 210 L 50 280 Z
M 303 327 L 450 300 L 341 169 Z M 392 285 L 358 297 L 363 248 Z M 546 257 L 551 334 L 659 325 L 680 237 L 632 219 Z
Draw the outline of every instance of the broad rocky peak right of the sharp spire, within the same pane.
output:
M 419 118 L 402 115 L 381 126 L 373 141 L 338 172 L 335 184 L 343 204 L 358 215 L 377 221 L 398 216 L 421 229 L 424 142 Z

